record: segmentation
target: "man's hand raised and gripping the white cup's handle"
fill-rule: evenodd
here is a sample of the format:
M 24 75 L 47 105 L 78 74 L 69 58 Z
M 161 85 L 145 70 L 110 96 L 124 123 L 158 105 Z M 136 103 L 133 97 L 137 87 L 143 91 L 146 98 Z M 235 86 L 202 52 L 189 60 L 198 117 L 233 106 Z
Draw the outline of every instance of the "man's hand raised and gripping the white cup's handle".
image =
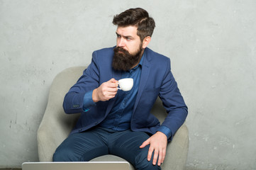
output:
M 98 101 L 108 101 L 116 96 L 118 81 L 110 79 L 92 92 L 92 100 L 96 103 Z

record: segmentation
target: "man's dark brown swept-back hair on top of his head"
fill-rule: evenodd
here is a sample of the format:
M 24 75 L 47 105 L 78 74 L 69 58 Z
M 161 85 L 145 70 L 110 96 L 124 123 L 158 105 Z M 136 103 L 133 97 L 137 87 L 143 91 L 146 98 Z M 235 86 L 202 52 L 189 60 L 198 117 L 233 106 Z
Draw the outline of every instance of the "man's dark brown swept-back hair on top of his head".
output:
M 117 26 L 137 26 L 137 35 L 143 41 L 145 37 L 152 36 L 155 21 L 143 8 L 130 8 L 113 17 L 112 23 Z

